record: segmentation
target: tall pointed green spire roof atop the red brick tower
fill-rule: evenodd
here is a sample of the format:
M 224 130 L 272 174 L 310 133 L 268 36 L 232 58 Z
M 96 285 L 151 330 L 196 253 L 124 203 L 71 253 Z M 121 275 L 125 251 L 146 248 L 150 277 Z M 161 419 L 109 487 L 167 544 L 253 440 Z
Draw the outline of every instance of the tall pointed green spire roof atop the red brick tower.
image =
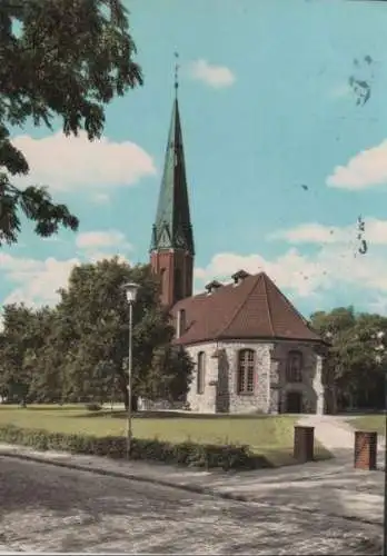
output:
M 177 91 L 177 87 L 176 87 Z M 185 249 L 195 255 L 177 93 L 173 101 L 150 251 Z

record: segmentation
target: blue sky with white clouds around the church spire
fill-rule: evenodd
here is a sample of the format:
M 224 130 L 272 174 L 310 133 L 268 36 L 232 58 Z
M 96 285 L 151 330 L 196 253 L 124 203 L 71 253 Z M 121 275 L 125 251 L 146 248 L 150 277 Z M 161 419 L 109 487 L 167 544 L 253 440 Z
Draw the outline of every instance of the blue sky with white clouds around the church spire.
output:
M 178 50 L 196 289 L 266 270 L 305 315 L 349 304 L 387 312 L 387 6 L 126 3 L 145 86 L 109 106 L 102 141 L 64 139 L 60 126 L 14 130 L 27 182 L 49 183 L 81 225 L 51 240 L 24 226 L 0 251 L 2 302 L 53 304 L 75 264 L 148 260 Z M 365 106 L 350 75 L 371 83 Z

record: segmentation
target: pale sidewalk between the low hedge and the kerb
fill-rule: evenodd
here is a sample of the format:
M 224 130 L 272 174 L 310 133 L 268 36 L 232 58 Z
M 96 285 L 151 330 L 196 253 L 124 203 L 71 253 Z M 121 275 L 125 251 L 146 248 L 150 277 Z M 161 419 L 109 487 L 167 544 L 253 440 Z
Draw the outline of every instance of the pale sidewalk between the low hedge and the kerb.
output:
M 280 506 L 290 512 L 298 509 L 377 525 L 383 523 L 384 474 L 354 469 L 349 451 L 346 457 L 343 451 L 340 459 L 241 473 L 192 470 L 67 453 L 39 453 L 6 444 L 0 445 L 0 456 L 32 459 L 222 498 Z

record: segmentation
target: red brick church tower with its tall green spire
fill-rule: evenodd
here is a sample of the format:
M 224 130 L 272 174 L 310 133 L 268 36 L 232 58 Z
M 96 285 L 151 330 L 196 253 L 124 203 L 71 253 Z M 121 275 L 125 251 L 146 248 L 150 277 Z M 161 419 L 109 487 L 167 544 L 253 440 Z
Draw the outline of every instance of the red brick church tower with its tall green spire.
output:
M 160 277 L 163 306 L 170 308 L 192 295 L 194 257 L 176 71 L 172 116 L 150 244 L 150 265 Z

